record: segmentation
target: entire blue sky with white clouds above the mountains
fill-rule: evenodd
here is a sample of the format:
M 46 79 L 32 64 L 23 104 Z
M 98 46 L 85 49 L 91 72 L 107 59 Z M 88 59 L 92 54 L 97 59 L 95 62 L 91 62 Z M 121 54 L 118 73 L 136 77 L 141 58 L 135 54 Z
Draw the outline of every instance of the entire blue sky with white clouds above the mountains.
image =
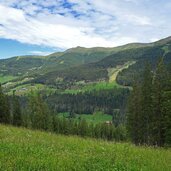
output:
M 171 0 L 0 0 L 0 58 L 171 36 Z

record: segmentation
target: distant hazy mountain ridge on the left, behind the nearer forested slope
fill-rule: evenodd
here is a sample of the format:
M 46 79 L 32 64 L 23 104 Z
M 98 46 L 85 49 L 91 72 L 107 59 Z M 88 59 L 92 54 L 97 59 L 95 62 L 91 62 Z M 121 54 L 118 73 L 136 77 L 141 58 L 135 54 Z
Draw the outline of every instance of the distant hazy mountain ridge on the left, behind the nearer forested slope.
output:
M 28 73 L 44 73 L 82 64 L 100 61 L 115 52 L 146 46 L 146 44 L 128 44 L 114 48 L 76 47 L 64 52 L 56 52 L 48 56 L 16 56 L 0 60 L 0 74 L 27 75 Z

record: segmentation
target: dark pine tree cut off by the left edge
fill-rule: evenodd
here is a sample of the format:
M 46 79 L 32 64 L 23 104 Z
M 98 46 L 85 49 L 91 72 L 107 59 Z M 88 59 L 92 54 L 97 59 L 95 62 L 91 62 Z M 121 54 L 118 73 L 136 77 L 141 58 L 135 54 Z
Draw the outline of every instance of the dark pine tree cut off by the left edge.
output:
M 7 96 L 2 91 L 0 84 L 0 123 L 10 123 L 10 107 Z

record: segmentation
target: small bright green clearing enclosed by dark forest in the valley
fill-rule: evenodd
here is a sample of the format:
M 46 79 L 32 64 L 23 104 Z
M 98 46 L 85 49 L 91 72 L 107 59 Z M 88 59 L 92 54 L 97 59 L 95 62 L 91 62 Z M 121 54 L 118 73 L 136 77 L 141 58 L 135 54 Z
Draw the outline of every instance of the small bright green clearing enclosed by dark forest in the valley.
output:
M 59 113 L 58 115 L 60 117 L 66 118 L 69 116 L 69 113 Z M 112 116 L 104 114 L 102 112 L 96 112 L 94 114 L 89 114 L 89 115 L 88 114 L 81 114 L 81 115 L 76 114 L 75 119 L 76 120 L 85 119 L 88 123 L 97 124 L 97 123 L 103 123 L 106 121 L 112 121 Z

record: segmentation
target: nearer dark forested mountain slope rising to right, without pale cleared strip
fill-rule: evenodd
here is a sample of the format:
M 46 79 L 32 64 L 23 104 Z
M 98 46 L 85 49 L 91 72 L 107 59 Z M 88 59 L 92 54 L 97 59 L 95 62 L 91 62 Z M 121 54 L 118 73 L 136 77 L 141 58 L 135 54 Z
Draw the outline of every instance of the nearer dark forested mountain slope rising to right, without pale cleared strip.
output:
M 79 48 L 80 49 L 80 48 Z M 74 49 L 75 50 L 75 49 Z M 49 72 L 36 78 L 37 83 L 55 84 L 56 79 L 65 82 L 109 80 L 109 69 L 131 62 L 127 69 L 118 73 L 117 81 L 122 85 L 131 85 L 138 73 L 143 71 L 144 64 L 149 61 L 155 67 L 159 58 L 164 57 L 166 63 L 171 62 L 171 38 L 166 38 L 149 44 L 128 44 L 115 48 L 113 54 L 92 63 L 66 68 L 65 70 Z

